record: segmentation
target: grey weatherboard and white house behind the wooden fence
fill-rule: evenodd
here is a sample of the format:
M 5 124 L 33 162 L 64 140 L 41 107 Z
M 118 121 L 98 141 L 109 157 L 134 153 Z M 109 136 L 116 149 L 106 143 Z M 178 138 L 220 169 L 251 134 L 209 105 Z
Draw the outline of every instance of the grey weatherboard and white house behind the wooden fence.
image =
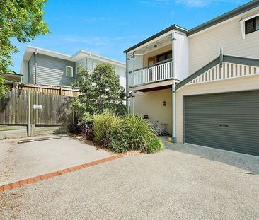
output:
M 21 74 L 23 74 L 23 83 L 71 86 L 81 68 L 92 71 L 98 63 L 113 64 L 116 74 L 120 76 L 121 86 L 125 87 L 126 65 L 124 63 L 84 50 L 69 56 L 38 47 L 27 46 L 23 54 Z

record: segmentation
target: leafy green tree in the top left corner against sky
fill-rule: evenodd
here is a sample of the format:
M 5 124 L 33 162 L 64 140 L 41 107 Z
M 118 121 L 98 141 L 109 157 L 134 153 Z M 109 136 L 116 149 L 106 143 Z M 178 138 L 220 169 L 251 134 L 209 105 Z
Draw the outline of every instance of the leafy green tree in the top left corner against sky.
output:
M 5 91 L 2 74 L 7 66 L 13 65 L 11 54 L 18 52 L 17 47 L 11 44 L 11 38 L 24 43 L 50 32 L 43 21 L 45 1 L 0 1 L 0 95 Z

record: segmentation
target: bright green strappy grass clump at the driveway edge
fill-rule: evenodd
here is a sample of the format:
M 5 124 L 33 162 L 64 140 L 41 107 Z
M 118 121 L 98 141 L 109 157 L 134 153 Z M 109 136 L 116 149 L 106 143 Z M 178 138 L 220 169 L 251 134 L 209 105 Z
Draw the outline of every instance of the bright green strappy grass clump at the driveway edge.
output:
M 154 153 L 163 144 L 148 121 L 136 116 L 118 117 L 105 112 L 93 117 L 94 140 L 116 153 L 139 150 Z

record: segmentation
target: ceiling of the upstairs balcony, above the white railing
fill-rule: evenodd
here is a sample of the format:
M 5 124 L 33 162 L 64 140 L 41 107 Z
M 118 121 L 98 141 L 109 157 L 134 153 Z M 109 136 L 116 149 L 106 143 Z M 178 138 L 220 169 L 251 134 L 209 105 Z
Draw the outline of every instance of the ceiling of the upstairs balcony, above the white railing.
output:
M 135 54 L 147 54 L 149 52 L 152 52 L 154 50 L 157 50 L 161 47 L 164 47 L 166 45 L 171 44 L 171 35 L 167 35 L 166 37 L 160 38 L 158 40 L 154 40 L 150 42 L 147 45 L 143 45 L 143 47 L 139 48 L 138 50 L 135 51 Z

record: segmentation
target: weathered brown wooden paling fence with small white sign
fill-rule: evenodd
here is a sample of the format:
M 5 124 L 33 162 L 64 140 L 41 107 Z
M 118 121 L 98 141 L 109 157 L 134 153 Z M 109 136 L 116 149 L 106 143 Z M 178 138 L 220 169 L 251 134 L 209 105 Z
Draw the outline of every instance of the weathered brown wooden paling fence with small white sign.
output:
M 67 96 L 13 89 L 0 99 L 0 138 L 10 137 L 19 126 L 33 136 L 40 130 L 69 125 L 73 120 L 70 101 Z

